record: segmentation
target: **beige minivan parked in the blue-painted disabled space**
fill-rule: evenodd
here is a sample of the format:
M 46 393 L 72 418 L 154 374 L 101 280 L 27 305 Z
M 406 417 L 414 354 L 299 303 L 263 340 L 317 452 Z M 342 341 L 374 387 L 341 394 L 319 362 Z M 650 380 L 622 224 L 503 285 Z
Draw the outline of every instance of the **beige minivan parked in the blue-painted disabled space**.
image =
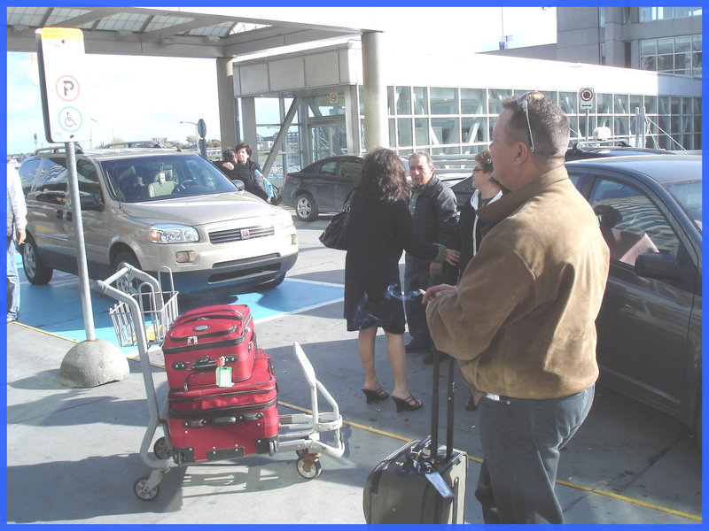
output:
M 274 288 L 298 258 L 289 212 L 237 188 L 194 152 L 77 150 L 91 278 L 121 262 L 155 274 L 168 266 L 182 292 L 235 285 Z M 63 149 L 38 150 L 19 168 L 27 201 L 27 280 L 77 273 L 73 209 Z

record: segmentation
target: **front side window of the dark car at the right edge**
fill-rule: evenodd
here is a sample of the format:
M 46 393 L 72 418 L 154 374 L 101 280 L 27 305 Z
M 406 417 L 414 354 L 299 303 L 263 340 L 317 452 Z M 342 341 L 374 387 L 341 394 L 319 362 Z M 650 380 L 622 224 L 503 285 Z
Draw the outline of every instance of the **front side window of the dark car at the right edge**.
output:
M 596 179 L 589 203 L 598 216 L 612 260 L 635 266 L 635 258 L 647 252 L 677 258 L 677 235 L 641 190 L 619 181 Z

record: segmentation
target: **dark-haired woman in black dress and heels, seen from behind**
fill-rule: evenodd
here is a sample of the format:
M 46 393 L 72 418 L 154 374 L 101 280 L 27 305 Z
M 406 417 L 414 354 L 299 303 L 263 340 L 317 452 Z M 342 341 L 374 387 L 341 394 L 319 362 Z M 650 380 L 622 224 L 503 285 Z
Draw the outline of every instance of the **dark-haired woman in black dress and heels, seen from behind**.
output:
M 406 169 L 392 150 L 379 148 L 364 158 L 362 177 L 354 186 L 347 227 L 345 319 L 348 331 L 359 331 L 357 345 L 364 368 L 362 392 L 367 403 L 386 400 L 374 368 L 378 327 L 386 333 L 396 411 L 413 411 L 423 402 L 406 382 L 404 305 L 399 260 L 403 250 L 435 262 L 455 264 L 460 256 L 415 232 L 408 206 Z

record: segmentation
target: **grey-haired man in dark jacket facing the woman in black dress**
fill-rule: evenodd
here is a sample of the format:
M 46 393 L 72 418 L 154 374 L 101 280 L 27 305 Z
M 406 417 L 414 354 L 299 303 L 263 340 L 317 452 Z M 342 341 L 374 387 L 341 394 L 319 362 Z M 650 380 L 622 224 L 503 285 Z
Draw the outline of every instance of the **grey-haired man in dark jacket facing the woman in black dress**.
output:
M 409 212 L 414 227 L 427 242 L 449 247 L 456 228 L 456 195 L 433 174 L 433 161 L 427 153 L 409 157 L 409 174 L 414 183 L 409 197 Z M 443 281 L 443 266 L 406 253 L 404 285 L 407 293 L 428 289 Z M 433 343 L 426 323 L 425 306 L 418 297 L 406 303 L 406 319 L 413 339 L 407 352 L 426 352 L 424 363 L 432 363 Z

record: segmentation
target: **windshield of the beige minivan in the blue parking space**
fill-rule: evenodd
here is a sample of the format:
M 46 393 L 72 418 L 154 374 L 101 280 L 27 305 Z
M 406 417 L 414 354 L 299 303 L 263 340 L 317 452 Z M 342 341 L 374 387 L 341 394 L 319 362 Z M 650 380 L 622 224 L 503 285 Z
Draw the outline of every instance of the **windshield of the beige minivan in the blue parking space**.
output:
M 125 203 L 234 192 L 237 187 L 204 158 L 165 155 L 99 162 L 111 194 Z

